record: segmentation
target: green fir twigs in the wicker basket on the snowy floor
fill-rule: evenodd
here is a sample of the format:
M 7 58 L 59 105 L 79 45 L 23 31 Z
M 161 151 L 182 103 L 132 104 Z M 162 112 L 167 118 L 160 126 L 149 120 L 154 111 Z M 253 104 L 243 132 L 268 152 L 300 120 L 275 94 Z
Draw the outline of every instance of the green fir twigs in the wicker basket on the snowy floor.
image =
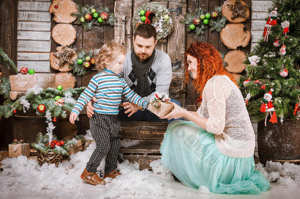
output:
M 56 135 L 53 135 L 52 138 L 53 141 L 57 140 Z M 49 135 L 43 135 L 42 133 L 38 133 L 35 142 L 31 143 L 31 146 L 35 149 L 38 150 L 42 153 L 46 153 L 48 151 L 48 149 L 52 149 L 53 148 L 53 152 L 54 153 L 61 153 L 64 156 L 68 156 L 68 150 L 70 148 L 71 145 L 76 144 L 76 142 L 74 140 L 70 140 L 67 142 L 64 142 L 63 145 L 61 145 L 60 147 L 51 147 L 51 145 L 49 144 Z

